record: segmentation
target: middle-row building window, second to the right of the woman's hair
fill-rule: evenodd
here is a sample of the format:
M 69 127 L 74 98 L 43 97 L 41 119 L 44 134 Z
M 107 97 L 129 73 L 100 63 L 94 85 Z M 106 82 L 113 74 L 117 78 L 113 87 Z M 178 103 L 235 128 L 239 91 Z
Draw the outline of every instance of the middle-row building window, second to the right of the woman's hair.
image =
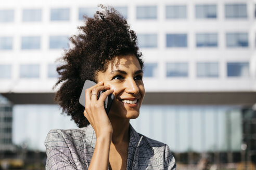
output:
M 167 34 L 167 47 L 187 47 L 187 34 Z

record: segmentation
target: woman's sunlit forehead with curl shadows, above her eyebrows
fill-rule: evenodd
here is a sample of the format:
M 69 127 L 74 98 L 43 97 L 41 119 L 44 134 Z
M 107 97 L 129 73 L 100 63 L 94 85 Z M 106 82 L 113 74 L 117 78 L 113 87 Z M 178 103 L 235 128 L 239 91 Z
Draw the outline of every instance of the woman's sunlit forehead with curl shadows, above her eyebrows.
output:
M 107 69 L 108 71 L 113 71 L 113 70 L 126 70 L 126 69 L 136 69 L 140 70 L 142 69 L 140 67 L 139 61 L 136 58 L 135 55 L 133 54 L 128 54 L 128 55 L 118 55 L 116 56 L 113 60 L 111 60 L 108 63 Z

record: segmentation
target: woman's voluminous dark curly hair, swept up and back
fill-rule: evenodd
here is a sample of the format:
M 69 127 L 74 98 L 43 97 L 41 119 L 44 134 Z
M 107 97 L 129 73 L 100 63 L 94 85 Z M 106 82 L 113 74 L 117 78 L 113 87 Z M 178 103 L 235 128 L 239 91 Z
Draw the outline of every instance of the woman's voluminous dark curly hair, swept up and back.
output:
M 57 67 L 59 78 L 55 87 L 61 86 L 55 101 L 62 107 L 62 113 L 71 116 L 79 127 L 89 124 L 79 103 L 85 80 L 96 82 L 96 74 L 105 72 L 109 61 L 118 55 L 135 55 L 143 68 L 135 32 L 117 10 L 99 7 L 103 11 L 96 11 L 94 18 L 84 16 L 85 24 L 78 27 L 80 33 L 70 37 L 74 47 L 65 51 L 61 58 L 64 64 Z

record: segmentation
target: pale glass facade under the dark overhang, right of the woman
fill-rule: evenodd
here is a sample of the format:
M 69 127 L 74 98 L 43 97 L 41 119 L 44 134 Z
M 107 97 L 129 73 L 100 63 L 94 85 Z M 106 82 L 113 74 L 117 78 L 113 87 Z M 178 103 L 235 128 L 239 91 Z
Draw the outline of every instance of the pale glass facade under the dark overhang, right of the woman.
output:
M 241 110 L 236 106 L 142 105 L 131 124 L 174 152 L 241 149 Z

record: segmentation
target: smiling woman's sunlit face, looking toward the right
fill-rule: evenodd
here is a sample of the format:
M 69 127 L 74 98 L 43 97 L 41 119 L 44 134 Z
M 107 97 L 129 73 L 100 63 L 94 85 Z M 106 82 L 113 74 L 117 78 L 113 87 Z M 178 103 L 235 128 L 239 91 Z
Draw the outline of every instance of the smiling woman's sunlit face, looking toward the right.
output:
M 142 68 L 135 55 L 121 55 L 109 62 L 106 72 L 97 74 L 98 82 L 103 81 L 114 90 L 114 101 L 109 117 L 135 119 L 145 95 Z

